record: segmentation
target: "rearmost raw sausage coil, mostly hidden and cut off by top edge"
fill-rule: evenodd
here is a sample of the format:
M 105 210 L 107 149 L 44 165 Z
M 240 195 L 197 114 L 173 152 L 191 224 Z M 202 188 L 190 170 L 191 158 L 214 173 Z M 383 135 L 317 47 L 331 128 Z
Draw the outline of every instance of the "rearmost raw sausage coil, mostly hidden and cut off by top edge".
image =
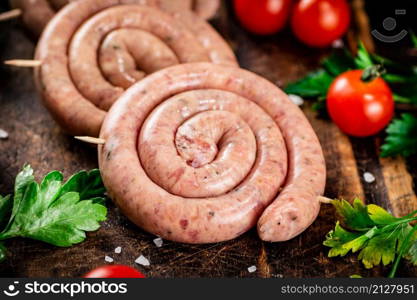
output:
M 23 11 L 23 24 L 40 36 L 55 13 L 71 1 L 77 0 L 10 0 L 10 6 Z M 170 12 L 194 11 L 203 19 L 211 19 L 220 6 L 220 0 L 153 0 L 148 1 Z

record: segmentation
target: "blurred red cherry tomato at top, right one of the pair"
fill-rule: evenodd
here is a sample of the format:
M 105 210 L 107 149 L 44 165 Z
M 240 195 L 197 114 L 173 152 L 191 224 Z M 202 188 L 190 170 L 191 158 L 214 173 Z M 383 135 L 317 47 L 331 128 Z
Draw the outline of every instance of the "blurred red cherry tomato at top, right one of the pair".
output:
M 291 15 L 296 37 L 312 47 L 326 47 L 342 37 L 350 22 L 346 0 L 300 0 Z

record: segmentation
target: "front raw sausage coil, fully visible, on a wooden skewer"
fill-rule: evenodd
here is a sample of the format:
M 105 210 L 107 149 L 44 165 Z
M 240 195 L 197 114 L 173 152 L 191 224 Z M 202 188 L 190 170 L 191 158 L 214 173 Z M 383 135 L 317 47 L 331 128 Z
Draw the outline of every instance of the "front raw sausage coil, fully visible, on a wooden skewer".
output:
M 109 195 L 165 239 L 224 241 L 258 222 L 263 240 L 283 241 L 318 214 L 326 174 L 318 139 L 280 89 L 249 71 L 209 63 L 158 71 L 119 98 L 100 137 Z

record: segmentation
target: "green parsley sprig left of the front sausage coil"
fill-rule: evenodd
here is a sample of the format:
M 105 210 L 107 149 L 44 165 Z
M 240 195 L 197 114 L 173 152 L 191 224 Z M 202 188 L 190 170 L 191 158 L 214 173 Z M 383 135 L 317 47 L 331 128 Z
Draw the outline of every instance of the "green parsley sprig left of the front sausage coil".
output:
M 106 219 L 105 188 L 99 170 L 81 171 L 63 183 L 58 171 L 38 184 L 26 165 L 16 176 L 14 196 L 0 196 L 0 241 L 24 237 L 55 246 L 82 242 Z M 0 260 L 6 248 L 0 242 Z

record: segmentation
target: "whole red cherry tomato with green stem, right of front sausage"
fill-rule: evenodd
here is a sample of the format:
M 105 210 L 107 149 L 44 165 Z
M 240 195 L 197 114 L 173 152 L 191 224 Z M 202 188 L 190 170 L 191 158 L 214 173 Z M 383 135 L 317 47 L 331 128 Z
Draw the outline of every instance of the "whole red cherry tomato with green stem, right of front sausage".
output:
M 364 82 L 362 70 L 342 73 L 327 92 L 327 110 L 345 133 L 358 137 L 376 134 L 392 119 L 394 100 L 380 77 Z

